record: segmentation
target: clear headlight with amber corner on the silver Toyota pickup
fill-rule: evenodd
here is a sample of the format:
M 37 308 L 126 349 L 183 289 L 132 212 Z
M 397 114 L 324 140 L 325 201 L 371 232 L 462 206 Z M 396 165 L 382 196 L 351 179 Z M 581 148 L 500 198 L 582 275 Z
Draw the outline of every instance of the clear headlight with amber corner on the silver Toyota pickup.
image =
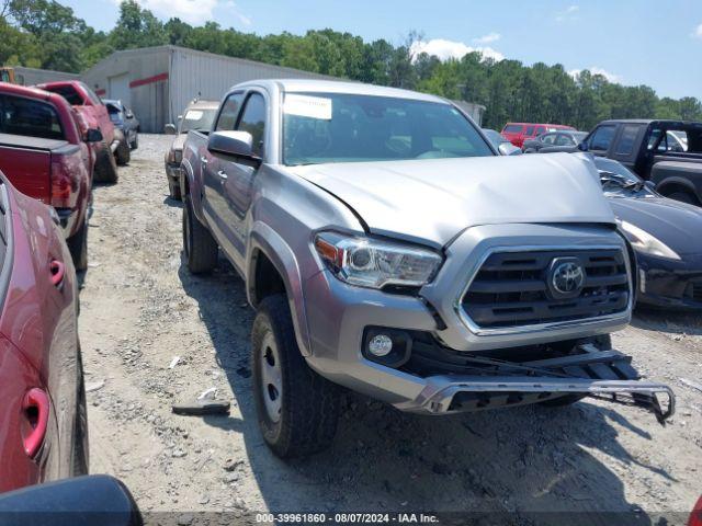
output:
M 442 261 L 428 249 L 337 232 L 317 235 L 315 249 L 339 279 L 369 288 L 422 286 L 433 278 Z

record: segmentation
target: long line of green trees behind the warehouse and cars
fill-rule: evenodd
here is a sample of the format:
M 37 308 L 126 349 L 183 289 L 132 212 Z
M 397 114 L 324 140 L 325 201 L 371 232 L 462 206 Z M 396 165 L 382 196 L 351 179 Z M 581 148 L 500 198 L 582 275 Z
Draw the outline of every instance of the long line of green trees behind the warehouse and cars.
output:
M 487 107 L 484 125 L 497 129 L 508 121 L 586 130 L 605 118 L 702 121 L 702 103 L 692 96 L 659 99 L 646 85 L 621 85 L 587 70 L 574 78 L 561 65 L 498 62 L 478 53 L 445 61 L 415 56 L 420 39 L 415 32 L 393 45 L 332 30 L 258 36 L 216 22 L 193 27 L 177 18 L 162 23 L 135 0 L 121 3 L 105 34 L 56 0 L 0 0 L 0 64 L 80 71 L 114 50 L 171 44 L 476 102 Z

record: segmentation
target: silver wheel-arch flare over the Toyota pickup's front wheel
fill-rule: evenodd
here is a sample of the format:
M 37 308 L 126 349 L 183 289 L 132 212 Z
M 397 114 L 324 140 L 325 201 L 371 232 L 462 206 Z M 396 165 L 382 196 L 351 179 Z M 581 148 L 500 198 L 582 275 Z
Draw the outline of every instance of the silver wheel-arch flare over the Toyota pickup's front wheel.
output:
M 273 263 L 283 277 L 287 302 L 295 328 L 297 346 L 303 356 L 312 355 L 309 330 L 305 313 L 305 299 L 297 258 L 285 240 L 264 222 L 256 221 L 249 237 L 247 249 L 247 297 L 251 305 L 256 304 L 256 264 L 258 254 L 263 253 Z

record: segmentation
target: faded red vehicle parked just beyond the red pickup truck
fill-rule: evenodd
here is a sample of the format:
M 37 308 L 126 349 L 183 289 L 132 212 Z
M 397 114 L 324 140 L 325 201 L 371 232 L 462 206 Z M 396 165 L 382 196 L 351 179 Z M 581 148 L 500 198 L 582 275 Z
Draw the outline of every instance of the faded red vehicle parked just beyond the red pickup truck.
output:
M 117 165 L 114 152 L 120 146 L 120 138 L 115 138 L 114 125 L 100 98 L 84 82 L 78 80 L 46 82 L 37 84 L 37 88 L 61 95 L 71 106 L 83 114 L 89 127 L 100 130 L 103 140 L 92 145 L 95 150 L 93 181 L 116 183 Z

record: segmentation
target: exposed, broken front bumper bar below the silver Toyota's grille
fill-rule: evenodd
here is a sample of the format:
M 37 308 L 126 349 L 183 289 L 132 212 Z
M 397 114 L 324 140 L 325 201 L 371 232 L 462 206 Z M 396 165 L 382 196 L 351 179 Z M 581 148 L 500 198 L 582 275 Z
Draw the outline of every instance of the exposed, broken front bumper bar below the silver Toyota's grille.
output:
M 660 424 L 672 416 L 676 405 L 672 389 L 641 380 L 630 356 L 613 350 L 600 351 L 591 344 L 580 345 L 579 351 L 519 364 L 476 357 L 476 369 L 485 373 L 428 377 L 415 400 L 396 407 L 409 412 L 446 414 L 582 396 L 646 409 Z

